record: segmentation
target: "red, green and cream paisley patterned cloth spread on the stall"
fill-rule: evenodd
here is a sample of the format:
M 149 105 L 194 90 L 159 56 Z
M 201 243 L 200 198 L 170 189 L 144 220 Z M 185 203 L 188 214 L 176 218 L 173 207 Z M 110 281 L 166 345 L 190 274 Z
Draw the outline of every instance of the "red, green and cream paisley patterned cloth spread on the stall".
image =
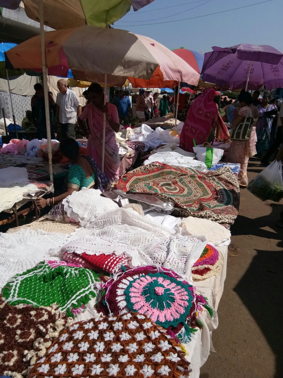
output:
M 177 216 L 224 224 L 234 223 L 240 203 L 237 178 L 227 167 L 203 173 L 154 162 L 121 177 L 117 189 L 174 201 Z

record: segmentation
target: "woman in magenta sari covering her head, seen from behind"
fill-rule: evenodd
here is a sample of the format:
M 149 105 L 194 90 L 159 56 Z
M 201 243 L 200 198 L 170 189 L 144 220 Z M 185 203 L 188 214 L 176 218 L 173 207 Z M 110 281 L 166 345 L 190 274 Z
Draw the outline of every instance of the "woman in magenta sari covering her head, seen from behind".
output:
M 215 90 L 210 88 L 198 96 L 189 108 L 186 121 L 180 135 L 180 147 L 188 152 L 194 152 L 196 145 L 208 141 L 218 119 L 218 108 L 213 101 Z

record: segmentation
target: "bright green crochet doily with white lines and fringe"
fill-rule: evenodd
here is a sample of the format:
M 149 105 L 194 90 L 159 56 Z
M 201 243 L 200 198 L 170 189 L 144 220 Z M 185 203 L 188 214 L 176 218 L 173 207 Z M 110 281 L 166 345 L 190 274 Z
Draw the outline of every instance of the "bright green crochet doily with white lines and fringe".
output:
M 3 287 L 3 297 L 11 304 L 34 307 L 58 304 L 68 316 L 79 314 L 95 297 L 99 275 L 66 262 L 41 262 L 17 274 Z

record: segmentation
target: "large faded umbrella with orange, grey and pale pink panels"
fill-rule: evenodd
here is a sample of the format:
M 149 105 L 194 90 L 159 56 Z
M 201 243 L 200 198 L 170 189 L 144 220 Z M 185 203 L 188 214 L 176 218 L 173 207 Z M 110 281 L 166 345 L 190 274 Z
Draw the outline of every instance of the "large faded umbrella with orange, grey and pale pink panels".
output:
M 154 79 L 197 85 L 200 74 L 161 43 L 126 30 L 82 26 L 44 34 L 49 75 L 122 86 L 126 79 Z M 40 36 L 6 52 L 13 68 L 42 71 Z M 134 87 L 138 87 L 133 85 Z M 152 85 L 157 88 L 160 85 Z

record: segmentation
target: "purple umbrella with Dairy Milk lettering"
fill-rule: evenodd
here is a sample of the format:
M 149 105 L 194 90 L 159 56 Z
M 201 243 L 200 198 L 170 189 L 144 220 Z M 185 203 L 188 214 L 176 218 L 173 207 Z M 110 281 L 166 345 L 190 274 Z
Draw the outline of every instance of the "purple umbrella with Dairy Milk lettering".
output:
M 242 44 L 229 48 L 212 47 L 205 53 L 202 80 L 231 89 L 283 87 L 283 54 L 267 45 Z

